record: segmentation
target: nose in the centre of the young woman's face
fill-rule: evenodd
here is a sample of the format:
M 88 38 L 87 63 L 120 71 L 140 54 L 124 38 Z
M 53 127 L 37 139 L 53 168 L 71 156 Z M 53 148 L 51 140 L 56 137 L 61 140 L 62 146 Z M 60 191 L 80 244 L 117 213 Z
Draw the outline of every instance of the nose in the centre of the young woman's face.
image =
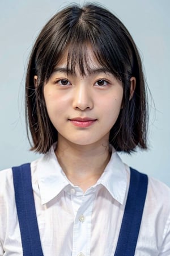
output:
M 86 110 L 92 109 L 94 106 L 92 94 L 87 84 L 80 84 L 76 86 L 74 91 L 73 108 Z

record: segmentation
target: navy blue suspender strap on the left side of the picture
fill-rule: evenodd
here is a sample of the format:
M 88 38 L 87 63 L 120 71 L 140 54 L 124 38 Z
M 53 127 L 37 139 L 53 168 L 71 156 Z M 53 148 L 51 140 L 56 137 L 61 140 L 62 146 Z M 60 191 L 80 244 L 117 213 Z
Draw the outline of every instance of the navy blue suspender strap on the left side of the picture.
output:
M 24 256 L 43 256 L 33 199 L 30 164 L 12 167 Z

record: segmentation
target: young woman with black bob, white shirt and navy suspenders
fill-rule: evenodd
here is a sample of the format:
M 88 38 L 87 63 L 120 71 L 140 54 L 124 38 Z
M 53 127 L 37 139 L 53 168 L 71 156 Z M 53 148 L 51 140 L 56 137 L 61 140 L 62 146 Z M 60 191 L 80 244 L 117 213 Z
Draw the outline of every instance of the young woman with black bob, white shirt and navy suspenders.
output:
M 25 92 L 44 156 L 0 172 L 0 255 L 170 255 L 170 189 L 117 154 L 147 148 L 148 118 L 120 20 L 94 4 L 59 11 L 32 49 Z

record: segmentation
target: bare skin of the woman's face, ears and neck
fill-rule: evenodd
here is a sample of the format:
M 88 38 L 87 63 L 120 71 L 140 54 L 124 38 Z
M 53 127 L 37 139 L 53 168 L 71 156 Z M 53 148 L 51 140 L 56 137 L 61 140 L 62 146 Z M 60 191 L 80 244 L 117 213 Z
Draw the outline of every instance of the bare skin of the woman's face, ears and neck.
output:
M 97 64 L 90 49 L 88 59 L 90 73 L 81 76 L 76 68 L 71 75 L 66 72 L 66 54 L 44 85 L 46 109 L 58 132 L 58 162 L 84 192 L 109 162 L 109 132 L 123 107 L 122 82 Z M 130 81 L 132 96 L 135 78 Z

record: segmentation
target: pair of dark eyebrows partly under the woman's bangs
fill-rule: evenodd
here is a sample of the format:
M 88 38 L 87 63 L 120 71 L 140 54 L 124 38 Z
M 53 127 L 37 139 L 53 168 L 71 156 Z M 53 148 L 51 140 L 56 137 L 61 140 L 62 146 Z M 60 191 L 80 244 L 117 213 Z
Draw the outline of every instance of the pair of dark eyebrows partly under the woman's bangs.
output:
M 71 71 L 71 69 L 68 69 L 68 68 L 59 68 L 59 67 L 56 67 L 54 68 L 53 70 L 53 73 L 54 72 L 59 72 L 59 73 L 67 73 L 68 75 L 76 75 L 75 71 Z M 110 71 L 108 71 L 108 69 L 106 68 L 91 68 L 88 73 L 90 75 L 96 75 L 96 74 L 99 74 L 99 73 L 109 73 L 111 75 L 113 75 Z

